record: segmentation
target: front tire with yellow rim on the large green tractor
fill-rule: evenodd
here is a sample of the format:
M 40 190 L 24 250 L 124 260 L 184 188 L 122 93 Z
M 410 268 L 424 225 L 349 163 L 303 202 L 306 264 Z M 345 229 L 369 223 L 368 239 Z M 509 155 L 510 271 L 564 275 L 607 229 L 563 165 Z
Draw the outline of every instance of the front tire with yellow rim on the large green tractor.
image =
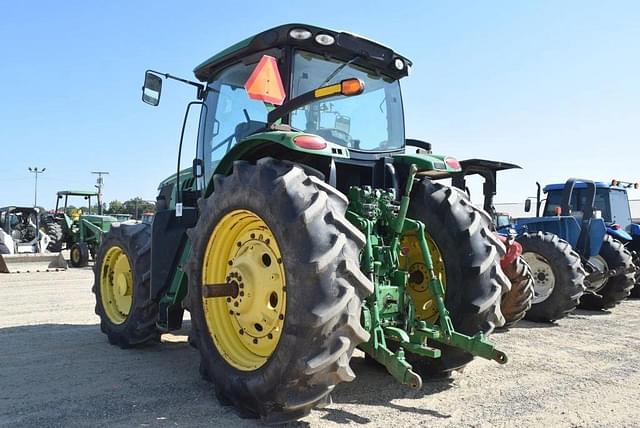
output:
M 98 248 L 92 288 L 100 329 L 121 348 L 157 341 L 158 304 L 150 296 L 151 228 L 114 224 Z

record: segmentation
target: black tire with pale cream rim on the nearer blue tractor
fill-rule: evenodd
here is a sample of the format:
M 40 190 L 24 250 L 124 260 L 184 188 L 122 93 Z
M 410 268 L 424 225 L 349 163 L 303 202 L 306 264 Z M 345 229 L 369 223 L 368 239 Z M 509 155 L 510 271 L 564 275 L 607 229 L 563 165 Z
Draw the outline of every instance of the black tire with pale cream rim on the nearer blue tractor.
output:
M 586 272 L 569 243 L 546 232 L 517 238 L 533 272 L 534 297 L 525 319 L 551 322 L 573 312 L 584 293 Z

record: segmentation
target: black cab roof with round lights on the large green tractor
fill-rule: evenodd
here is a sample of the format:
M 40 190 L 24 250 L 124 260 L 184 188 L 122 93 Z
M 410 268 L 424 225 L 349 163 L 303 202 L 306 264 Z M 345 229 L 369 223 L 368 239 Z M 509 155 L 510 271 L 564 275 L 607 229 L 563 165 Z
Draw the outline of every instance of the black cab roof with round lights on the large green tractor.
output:
M 305 40 L 294 39 L 289 35 L 294 29 L 307 30 L 311 33 L 311 37 Z M 330 46 L 322 46 L 315 41 L 318 34 L 330 35 L 335 39 L 335 42 Z M 284 24 L 229 46 L 198 65 L 194 68 L 193 73 L 198 80 L 206 82 L 211 80 L 215 72 L 223 66 L 252 54 L 285 46 L 299 47 L 347 60 L 358 55 L 360 58 L 359 61 L 355 61 L 356 63 L 363 63 L 362 65 L 375 68 L 395 79 L 407 76 L 408 69 L 412 64 L 411 61 L 395 53 L 392 49 L 352 33 L 307 24 Z M 398 70 L 394 65 L 397 58 L 404 61 L 405 66 L 402 70 Z

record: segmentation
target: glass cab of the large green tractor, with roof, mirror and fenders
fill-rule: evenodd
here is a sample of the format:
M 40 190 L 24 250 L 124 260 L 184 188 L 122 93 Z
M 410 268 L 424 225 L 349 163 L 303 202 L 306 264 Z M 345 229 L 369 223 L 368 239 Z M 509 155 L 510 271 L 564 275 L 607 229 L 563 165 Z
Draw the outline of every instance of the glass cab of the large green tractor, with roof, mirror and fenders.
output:
M 213 175 L 228 174 L 238 159 L 304 161 L 343 193 L 371 185 L 399 194 L 396 170 L 412 162 L 418 175 L 458 171 L 455 159 L 405 139 L 400 79 L 410 67 L 354 34 L 288 24 L 207 59 L 194 69 L 200 82 L 147 71 L 144 102 L 159 103 L 164 77 L 197 87 L 187 114 L 200 106 L 196 158 L 161 184 L 160 206 L 195 205 L 213 191 Z

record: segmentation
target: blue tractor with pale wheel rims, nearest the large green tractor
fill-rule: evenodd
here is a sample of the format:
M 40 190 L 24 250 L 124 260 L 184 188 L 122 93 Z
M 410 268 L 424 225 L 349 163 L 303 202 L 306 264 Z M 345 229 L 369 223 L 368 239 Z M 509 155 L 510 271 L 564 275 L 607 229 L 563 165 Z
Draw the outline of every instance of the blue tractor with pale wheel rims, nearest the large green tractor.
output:
M 517 240 L 534 273 L 534 305 L 548 312 L 564 310 L 563 302 L 573 290 L 566 287 L 558 290 L 556 285 L 566 282 L 567 278 L 579 282 L 582 274 L 585 293 L 580 298 L 580 307 L 613 308 L 629 296 L 635 282 L 635 266 L 631 252 L 608 233 L 603 210 L 598 209 L 606 204 L 596 202 L 602 198 L 596 183 L 570 178 L 564 184 L 548 185 L 543 191 L 547 193 L 546 200 L 541 199 L 538 184 L 536 217 L 515 220 Z M 530 209 L 528 199 L 525 211 Z M 579 255 L 581 268 L 578 270 L 575 257 L 563 257 L 567 254 L 567 245 Z

